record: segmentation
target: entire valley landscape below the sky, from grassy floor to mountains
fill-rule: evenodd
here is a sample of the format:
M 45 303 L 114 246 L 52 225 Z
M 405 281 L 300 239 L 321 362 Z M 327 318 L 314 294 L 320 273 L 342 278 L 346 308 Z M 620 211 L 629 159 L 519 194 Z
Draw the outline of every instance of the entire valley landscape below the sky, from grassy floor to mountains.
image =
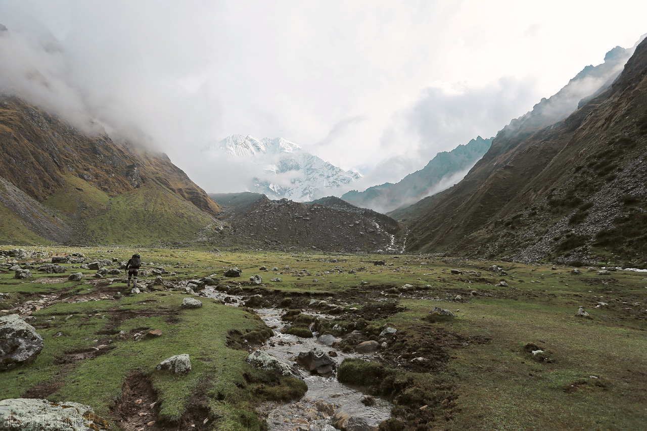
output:
M 1 96 L 0 430 L 643 429 L 647 41 L 569 85 L 342 198 L 285 140 L 220 144 L 327 176 L 207 193 Z

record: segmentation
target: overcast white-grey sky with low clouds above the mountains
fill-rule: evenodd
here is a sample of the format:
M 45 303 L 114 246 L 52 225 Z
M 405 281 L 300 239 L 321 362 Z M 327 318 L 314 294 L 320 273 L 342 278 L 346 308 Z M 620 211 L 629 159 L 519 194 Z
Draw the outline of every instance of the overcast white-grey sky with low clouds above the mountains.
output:
M 240 172 L 199 159 L 233 134 L 286 138 L 370 186 L 492 137 L 633 46 L 646 16 L 635 0 L 0 0 L 0 84 L 150 137 L 208 192 L 236 191 Z M 46 88 L 20 81 L 30 67 Z

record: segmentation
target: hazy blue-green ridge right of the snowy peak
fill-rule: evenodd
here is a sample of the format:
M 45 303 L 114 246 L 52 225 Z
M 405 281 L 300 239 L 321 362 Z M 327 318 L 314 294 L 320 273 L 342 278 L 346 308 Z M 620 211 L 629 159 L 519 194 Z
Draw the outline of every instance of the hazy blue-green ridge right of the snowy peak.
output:
M 443 186 L 444 179 L 461 175 L 474 166 L 490 148 L 492 138 L 477 137 L 465 145 L 459 145 L 452 151 L 438 153 L 421 170 L 410 173 L 396 184 L 389 182 L 367 188 L 364 192 L 351 190 L 344 193 L 342 199 L 356 206 L 371 208 L 380 212 L 395 210 L 403 205 L 439 192 L 452 184 Z M 455 178 L 459 181 L 460 178 Z

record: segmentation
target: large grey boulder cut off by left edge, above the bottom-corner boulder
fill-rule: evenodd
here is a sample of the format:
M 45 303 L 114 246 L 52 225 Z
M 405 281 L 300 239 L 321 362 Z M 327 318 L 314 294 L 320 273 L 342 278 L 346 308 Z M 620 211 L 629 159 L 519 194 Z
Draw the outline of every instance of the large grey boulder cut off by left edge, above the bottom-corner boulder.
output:
M 18 315 L 0 317 L 0 371 L 11 370 L 36 359 L 43 338 Z

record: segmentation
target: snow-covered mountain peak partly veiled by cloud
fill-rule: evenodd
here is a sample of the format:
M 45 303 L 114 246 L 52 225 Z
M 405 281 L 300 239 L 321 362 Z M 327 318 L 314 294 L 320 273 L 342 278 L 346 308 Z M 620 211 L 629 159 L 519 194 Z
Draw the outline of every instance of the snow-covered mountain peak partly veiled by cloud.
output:
M 233 135 L 206 149 L 206 154 L 227 154 L 246 160 L 259 171 L 248 190 L 271 199 L 283 197 L 311 201 L 333 193 L 345 184 L 360 179 L 353 171 L 344 171 L 303 150 L 283 138 L 256 139 Z

